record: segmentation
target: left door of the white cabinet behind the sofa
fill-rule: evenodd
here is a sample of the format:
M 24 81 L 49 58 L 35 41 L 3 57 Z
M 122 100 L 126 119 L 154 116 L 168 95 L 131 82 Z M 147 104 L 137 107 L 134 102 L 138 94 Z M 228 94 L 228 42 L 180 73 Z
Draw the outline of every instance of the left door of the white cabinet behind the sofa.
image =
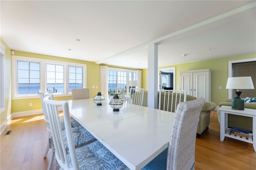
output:
M 186 90 L 187 95 L 193 95 L 193 83 L 192 83 L 192 73 L 182 73 L 180 74 L 180 88 L 181 90 Z

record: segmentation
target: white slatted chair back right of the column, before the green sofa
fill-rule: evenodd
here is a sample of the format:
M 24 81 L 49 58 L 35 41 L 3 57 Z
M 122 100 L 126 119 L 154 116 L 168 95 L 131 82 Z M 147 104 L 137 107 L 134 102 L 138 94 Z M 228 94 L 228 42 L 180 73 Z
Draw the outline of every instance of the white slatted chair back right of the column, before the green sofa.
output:
M 175 112 L 178 103 L 186 101 L 185 90 L 160 90 L 158 109 Z

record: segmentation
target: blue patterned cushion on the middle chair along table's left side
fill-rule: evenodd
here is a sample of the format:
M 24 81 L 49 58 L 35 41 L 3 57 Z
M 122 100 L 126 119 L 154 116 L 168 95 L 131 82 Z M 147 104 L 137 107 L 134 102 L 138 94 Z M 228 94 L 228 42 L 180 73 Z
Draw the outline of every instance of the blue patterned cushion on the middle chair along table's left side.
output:
M 90 134 L 88 132 L 88 130 L 86 130 L 81 125 L 78 127 L 73 127 L 71 129 L 72 129 L 72 136 L 73 136 L 75 148 L 78 148 L 84 144 L 87 144 L 89 142 L 96 140 L 96 138 L 94 136 L 92 136 L 92 134 Z M 62 130 L 62 135 L 64 136 L 65 148 L 66 148 L 66 150 L 68 150 L 68 142 L 67 142 L 67 136 L 66 136 L 65 129 Z M 52 150 L 55 150 L 52 137 L 49 138 L 49 142 L 50 142 L 50 148 L 52 148 Z

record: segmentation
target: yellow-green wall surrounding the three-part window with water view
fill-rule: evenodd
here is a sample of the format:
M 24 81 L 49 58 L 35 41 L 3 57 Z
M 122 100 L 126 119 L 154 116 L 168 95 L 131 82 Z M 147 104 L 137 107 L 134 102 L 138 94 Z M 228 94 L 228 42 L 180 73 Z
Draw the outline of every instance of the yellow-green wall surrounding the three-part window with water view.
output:
M 94 97 L 98 91 L 100 91 L 100 67 L 98 64 L 90 61 L 82 61 L 77 59 L 68 59 L 63 57 L 55 57 L 50 55 L 42 55 L 35 53 L 28 53 L 23 51 L 14 51 L 15 55 L 23 56 L 23 57 L 33 57 L 39 59 L 50 59 L 54 61 L 64 61 L 64 62 L 72 62 L 72 63 L 80 63 L 87 65 L 87 88 L 90 89 L 90 97 Z M 98 88 L 92 88 L 92 86 L 98 86 Z M 70 100 L 71 96 L 66 97 L 54 97 L 55 100 Z M 31 107 L 29 107 L 29 103 L 33 103 Z M 31 111 L 42 109 L 40 99 L 15 99 L 12 100 L 12 111 L 11 113 L 22 112 L 22 111 Z

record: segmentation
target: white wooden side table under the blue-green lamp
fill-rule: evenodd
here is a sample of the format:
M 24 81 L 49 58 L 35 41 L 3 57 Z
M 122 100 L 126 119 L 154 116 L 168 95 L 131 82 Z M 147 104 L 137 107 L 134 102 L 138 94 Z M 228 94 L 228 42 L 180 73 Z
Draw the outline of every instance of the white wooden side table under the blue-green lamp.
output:
M 229 138 L 252 143 L 256 152 L 256 110 L 245 108 L 244 111 L 240 111 L 231 109 L 230 106 L 221 106 L 218 110 L 220 111 L 220 140 L 223 141 L 225 136 L 227 136 Z M 233 133 L 230 133 L 230 128 L 228 128 L 228 114 L 252 117 L 252 134 L 250 133 L 252 137 L 246 139 L 243 136 L 235 136 Z

